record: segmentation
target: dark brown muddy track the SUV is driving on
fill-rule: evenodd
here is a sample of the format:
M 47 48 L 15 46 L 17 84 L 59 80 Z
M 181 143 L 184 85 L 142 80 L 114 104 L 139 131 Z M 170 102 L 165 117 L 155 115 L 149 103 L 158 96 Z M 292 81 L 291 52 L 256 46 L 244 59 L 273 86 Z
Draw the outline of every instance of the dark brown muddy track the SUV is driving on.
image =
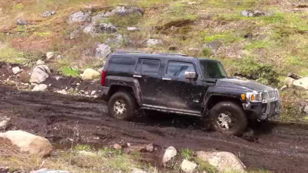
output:
M 205 131 L 194 119 L 174 119 L 155 113 L 132 122 L 110 119 L 103 101 L 43 92 L 16 91 L 0 87 L 0 116 L 12 117 L 11 130 L 25 130 L 52 142 L 99 142 L 104 144 L 153 143 L 195 150 L 229 151 L 248 168 L 275 172 L 308 171 L 306 125 L 265 123 L 254 128 L 249 140 Z M 78 122 L 78 123 L 77 123 Z M 77 126 L 76 126 L 77 124 Z M 93 140 L 99 137 L 99 140 Z M 249 142 L 250 141 L 250 142 Z M 156 156 L 158 158 L 158 156 Z

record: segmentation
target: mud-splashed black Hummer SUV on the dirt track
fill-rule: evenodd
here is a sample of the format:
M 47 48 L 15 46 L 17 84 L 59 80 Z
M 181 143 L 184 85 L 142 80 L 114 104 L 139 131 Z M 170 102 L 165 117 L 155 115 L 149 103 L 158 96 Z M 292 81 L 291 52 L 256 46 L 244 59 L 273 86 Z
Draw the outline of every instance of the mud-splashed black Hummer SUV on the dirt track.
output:
M 130 119 L 137 109 L 201 117 L 213 130 L 241 135 L 248 119 L 277 115 L 277 89 L 228 78 L 213 59 L 124 51 L 107 56 L 101 97 L 109 114 Z

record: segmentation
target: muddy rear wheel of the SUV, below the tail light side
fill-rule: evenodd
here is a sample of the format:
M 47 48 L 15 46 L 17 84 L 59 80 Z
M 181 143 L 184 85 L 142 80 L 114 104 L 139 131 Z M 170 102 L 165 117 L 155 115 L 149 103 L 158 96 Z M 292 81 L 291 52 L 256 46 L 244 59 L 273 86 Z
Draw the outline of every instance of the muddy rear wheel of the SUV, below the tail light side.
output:
M 121 106 L 116 106 L 118 104 L 116 102 L 120 103 L 120 105 L 125 104 L 125 106 L 122 106 L 125 108 L 125 111 L 123 111 Z M 136 110 L 135 98 L 128 92 L 125 91 L 116 92 L 110 97 L 108 101 L 108 112 L 112 118 L 130 120 L 132 119 L 135 110 Z

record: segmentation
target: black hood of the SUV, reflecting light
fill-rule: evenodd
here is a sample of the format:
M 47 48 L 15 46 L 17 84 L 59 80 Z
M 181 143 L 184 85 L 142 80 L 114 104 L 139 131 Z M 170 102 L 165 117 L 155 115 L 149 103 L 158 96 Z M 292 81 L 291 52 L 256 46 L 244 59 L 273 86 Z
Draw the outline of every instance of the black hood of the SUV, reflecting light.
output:
M 272 87 L 263 85 L 261 83 L 253 82 L 250 80 L 240 80 L 240 79 L 230 79 L 230 78 L 218 79 L 216 85 L 222 87 L 241 89 L 249 92 L 260 91 L 260 90 L 266 90 L 266 91 L 273 90 Z

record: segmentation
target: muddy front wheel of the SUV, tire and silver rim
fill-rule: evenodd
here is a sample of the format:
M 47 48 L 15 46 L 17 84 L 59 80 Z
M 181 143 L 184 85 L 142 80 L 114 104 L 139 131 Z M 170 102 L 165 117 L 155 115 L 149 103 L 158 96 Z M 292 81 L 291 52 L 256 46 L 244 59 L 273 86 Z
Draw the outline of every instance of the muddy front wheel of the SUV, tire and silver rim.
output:
M 248 124 L 243 108 L 233 102 L 217 103 L 209 111 L 208 121 L 213 131 L 236 136 L 242 135 Z

